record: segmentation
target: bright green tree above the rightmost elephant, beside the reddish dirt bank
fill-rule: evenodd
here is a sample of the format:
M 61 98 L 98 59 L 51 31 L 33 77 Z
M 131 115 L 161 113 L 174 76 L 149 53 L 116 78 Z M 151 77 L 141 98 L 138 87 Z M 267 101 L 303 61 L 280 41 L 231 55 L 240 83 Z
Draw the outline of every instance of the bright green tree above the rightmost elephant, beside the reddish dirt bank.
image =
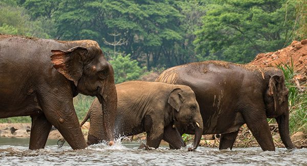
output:
M 290 1 L 215 1 L 208 5 L 194 44 L 199 60 L 247 63 L 260 52 L 287 46 L 293 37 Z

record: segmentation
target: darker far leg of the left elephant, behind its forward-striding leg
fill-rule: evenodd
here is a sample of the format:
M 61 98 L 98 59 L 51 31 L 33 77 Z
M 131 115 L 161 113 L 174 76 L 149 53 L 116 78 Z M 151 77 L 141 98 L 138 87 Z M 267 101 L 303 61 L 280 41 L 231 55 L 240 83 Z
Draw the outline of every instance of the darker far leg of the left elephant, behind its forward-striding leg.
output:
M 49 132 L 51 130 L 52 124 L 46 119 L 45 115 L 33 115 L 32 127 L 30 134 L 30 145 L 29 149 L 42 149 L 45 148 Z

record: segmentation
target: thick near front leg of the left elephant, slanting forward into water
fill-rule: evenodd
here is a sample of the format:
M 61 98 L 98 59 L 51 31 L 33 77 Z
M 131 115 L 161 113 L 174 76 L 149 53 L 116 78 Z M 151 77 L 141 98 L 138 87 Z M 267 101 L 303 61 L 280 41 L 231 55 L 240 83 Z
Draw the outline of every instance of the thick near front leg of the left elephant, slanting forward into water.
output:
M 67 90 L 63 90 L 61 94 L 41 97 L 41 108 L 47 120 L 58 129 L 72 149 L 84 149 L 87 144 L 74 109 L 73 97 L 65 91 Z

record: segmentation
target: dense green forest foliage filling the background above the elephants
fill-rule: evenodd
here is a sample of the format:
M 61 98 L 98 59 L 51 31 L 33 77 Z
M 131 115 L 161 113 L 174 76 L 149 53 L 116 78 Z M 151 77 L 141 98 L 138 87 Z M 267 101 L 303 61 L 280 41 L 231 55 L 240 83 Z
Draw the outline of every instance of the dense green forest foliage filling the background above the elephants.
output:
M 305 0 L 5 0 L 0 3 L 0 33 L 93 39 L 106 55 L 130 54 L 149 70 L 207 59 L 247 63 L 257 53 L 276 51 L 306 37 L 306 4 Z

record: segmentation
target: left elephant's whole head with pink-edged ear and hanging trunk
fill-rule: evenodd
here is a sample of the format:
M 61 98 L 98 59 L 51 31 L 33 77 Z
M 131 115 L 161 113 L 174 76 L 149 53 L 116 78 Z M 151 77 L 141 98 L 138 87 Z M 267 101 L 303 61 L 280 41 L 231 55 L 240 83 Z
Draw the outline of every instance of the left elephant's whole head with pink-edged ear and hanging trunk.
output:
M 72 81 L 78 93 L 97 96 L 104 112 L 101 118 L 106 129 L 105 140 L 114 139 L 117 93 L 113 68 L 96 41 L 81 40 L 73 44 L 78 46 L 69 50 L 52 50 L 53 67 Z

